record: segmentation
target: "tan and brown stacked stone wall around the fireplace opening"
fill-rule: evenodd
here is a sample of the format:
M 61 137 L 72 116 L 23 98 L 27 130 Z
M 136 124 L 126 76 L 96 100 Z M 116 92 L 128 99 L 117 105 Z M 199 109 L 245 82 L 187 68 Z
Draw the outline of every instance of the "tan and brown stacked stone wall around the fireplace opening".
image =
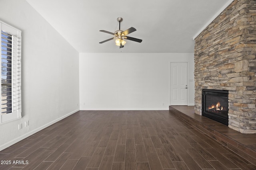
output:
M 256 133 L 256 1 L 234 0 L 195 39 L 195 111 L 202 89 L 229 90 L 229 127 Z

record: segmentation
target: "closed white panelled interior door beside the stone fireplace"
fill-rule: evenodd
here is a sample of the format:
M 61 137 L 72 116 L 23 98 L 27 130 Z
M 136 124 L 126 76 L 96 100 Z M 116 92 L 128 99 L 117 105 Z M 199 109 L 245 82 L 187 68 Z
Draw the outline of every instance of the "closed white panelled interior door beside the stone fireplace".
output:
M 188 106 L 188 63 L 170 67 L 170 105 Z

